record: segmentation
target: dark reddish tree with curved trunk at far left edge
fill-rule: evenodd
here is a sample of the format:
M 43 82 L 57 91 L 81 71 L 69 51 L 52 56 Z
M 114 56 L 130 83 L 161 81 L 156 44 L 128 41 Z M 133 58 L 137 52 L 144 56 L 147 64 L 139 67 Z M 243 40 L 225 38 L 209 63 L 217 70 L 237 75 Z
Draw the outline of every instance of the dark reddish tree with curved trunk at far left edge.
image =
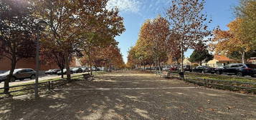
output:
M 20 59 L 35 54 L 35 24 L 28 1 L 0 1 L 0 54 L 11 61 L 4 93 L 9 94 L 9 81 Z

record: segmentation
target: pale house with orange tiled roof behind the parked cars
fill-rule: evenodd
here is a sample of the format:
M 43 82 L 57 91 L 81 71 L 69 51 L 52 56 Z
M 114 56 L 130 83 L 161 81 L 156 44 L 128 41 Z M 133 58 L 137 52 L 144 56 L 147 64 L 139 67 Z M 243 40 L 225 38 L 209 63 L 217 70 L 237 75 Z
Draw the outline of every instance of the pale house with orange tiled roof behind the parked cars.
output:
M 207 66 L 218 67 L 218 66 L 225 66 L 227 64 L 237 63 L 234 59 L 229 59 L 227 56 L 223 55 L 214 55 L 214 59 L 208 61 Z

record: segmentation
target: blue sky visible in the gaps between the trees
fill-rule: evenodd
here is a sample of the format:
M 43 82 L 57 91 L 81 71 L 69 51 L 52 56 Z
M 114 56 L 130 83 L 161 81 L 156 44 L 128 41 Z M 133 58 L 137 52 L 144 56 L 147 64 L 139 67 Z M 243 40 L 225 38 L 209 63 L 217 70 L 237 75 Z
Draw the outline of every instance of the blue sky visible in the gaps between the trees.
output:
M 212 18 L 211 28 L 220 26 L 227 29 L 227 24 L 234 20 L 233 7 L 237 6 L 239 0 L 206 0 L 204 12 Z M 128 49 L 136 44 L 138 33 L 146 19 L 153 19 L 158 14 L 166 16 L 165 12 L 171 6 L 171 0 L 110 0 L 108 8 L 118 7 L 120 16 L 124 18 L 126 31 L 115 39 L 119 42 L 119 48 L 126 62 Z M 191 55 L 193 50 L 185 53 L 186 57 Z

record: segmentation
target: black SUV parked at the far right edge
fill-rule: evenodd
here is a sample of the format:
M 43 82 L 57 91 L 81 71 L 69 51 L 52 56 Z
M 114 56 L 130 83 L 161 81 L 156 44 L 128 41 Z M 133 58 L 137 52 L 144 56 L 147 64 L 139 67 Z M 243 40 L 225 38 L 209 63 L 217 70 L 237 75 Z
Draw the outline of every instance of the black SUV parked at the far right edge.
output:
M 234 74 L 237 76 L 255 76 L 256 64 L 228 64 L 216 69 L 217 74 Z

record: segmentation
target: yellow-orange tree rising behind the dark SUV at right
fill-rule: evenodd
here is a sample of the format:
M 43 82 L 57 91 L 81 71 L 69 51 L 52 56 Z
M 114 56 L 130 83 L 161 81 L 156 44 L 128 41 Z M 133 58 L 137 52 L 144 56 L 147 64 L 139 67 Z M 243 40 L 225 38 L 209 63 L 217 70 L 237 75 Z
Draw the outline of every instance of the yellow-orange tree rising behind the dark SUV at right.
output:
M 250 39 L 243 34 L 242 31 L 242 19 L 235 19 L 227 26 L 229 30 L 222 31 L 217 29 L 214 31 L 214 39 L 211 46 L 218 54 L 232 54 L 237 52 L 242 58 L 242 63 L 245 63 L 245 54 L 248 51 L 252 51 L 253 44 Z M 217 43 L 217 44 L 215 44 Z

